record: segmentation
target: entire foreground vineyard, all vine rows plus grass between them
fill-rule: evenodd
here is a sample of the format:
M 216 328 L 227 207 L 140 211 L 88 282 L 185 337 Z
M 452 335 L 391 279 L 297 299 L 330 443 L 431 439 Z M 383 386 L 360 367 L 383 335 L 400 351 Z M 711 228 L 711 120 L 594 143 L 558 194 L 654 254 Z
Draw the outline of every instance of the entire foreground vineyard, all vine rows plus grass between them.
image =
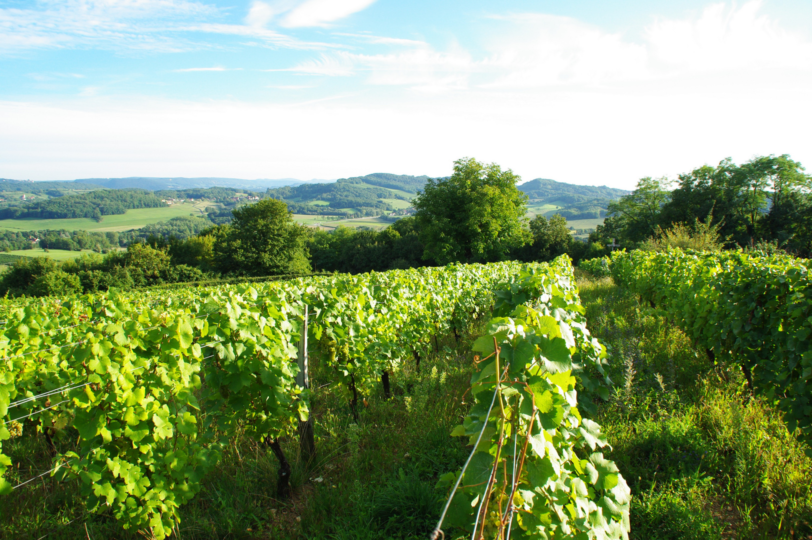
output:
M 559 257 L 5 300 L 3 530 L 812 534 L 804 261 L 635 251 L 579 272 Z

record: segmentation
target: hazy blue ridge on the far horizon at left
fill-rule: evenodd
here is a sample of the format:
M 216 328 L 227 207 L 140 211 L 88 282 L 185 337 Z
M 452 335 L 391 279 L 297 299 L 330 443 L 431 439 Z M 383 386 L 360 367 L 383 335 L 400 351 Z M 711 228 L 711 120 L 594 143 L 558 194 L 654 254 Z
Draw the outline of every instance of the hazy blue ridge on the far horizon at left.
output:
M 192 189 L 192 188 L 240 188 L 253 191 L 265 191 L 267 188 L 279 188 L 281 186 L 296 186 L 304 184 L 302 180 L 295 178 L 282 179 L 254 179 L 247 180 L 241 178 L 162 178 L 153 176 L 130 176 L 127 178 L 83 178 L 74 180 L 79 184 L 97 184 L 110 189 L 140 188 L 158 191 L 161 189 Z M 38 184 L 38 183 L 37 183 Z

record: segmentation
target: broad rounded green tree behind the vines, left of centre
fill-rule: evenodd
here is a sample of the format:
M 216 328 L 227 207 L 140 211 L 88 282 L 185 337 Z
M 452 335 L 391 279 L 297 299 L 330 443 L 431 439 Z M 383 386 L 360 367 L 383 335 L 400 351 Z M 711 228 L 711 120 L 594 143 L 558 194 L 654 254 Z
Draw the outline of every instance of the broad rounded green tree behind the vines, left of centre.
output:
M 263 199 L 233 212 L 214 235 L 214 266 L 222 274 L 279 275 L 310 271 L 307 230 L 293 221 L 287 204 Z

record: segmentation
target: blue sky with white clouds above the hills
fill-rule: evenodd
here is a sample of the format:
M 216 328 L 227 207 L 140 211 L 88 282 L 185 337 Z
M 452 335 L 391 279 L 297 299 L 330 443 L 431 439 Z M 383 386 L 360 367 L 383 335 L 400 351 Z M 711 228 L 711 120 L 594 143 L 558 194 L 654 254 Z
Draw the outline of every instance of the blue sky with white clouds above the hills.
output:
M 0 0 L 0 177 L 812 166 L 812 2 Z

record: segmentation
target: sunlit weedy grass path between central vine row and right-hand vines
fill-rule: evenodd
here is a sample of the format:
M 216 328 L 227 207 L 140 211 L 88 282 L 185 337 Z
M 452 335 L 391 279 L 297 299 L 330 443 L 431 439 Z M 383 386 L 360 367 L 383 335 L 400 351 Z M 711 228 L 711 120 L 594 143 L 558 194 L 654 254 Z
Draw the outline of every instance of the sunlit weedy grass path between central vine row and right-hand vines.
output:
M 632 489 L 631 537 L 812 538 L 812 460 L 740 370 L 611 279 L 578 283 L 614 358 L 596 420 Z

